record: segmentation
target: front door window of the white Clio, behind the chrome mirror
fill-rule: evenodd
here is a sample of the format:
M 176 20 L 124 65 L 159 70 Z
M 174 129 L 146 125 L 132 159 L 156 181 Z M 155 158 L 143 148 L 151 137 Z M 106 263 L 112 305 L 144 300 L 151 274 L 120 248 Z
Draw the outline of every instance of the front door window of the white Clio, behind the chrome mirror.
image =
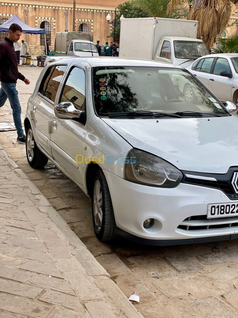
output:
M 85 73 L 81 68 L 74 67 L 63 87 L 60 102 L 71 102 L 78 110 L 82 110 L 85 100 Z

